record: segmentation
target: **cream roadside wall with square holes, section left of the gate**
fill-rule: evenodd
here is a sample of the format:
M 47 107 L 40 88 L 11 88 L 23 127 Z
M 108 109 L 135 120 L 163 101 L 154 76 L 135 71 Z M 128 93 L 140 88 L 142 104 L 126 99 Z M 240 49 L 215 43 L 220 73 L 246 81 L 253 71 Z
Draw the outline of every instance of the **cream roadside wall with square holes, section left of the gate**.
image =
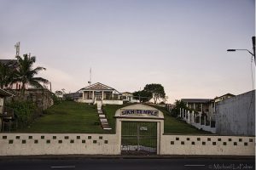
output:
M 0 156 L 119 155 L 115 134 L 1 133 Z

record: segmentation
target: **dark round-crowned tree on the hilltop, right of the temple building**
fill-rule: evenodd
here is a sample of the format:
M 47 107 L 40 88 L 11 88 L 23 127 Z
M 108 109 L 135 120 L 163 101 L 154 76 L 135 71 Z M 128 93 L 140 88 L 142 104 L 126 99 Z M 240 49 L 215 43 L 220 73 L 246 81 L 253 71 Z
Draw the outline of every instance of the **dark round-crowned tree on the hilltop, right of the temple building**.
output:
M 161 84 L 147 84 L 143 90 L 152 94 L 154 104 L 156 104 L 157 100 L 165 99 L 166 97 L 165 89 Z

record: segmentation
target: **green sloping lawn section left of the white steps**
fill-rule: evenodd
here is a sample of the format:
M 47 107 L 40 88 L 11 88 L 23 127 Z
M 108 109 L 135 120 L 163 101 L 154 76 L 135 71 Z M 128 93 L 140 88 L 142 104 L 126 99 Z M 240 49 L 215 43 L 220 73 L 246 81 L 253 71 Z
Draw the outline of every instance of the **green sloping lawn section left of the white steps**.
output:
M 98 125 L 97 125 L 98 123 Z M 108 133 L 100 125 L 96 105 L 63 101 L 45 111 L 21 133 Z

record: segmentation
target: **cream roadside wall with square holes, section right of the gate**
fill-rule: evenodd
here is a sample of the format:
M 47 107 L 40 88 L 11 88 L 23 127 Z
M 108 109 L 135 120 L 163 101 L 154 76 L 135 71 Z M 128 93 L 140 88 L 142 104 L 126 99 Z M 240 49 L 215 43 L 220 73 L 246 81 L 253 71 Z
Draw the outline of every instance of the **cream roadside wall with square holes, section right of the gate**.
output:
M 254 137 L 162 135 L 160 142 L 160 155 L 254 156 L 255 150 Z

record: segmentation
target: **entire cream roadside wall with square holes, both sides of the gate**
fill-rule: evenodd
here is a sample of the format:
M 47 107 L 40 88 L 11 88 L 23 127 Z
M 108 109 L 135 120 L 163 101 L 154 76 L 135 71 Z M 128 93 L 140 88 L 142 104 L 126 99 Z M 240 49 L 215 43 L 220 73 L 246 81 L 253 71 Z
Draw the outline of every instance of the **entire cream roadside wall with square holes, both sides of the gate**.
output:
M 0 156 L 120 155 L 116 134 L 1 133 Z M 160 142 L 160 143 L 159 143 Z M 159 155 L 254 156 L 254 137 L 160 135 Z

